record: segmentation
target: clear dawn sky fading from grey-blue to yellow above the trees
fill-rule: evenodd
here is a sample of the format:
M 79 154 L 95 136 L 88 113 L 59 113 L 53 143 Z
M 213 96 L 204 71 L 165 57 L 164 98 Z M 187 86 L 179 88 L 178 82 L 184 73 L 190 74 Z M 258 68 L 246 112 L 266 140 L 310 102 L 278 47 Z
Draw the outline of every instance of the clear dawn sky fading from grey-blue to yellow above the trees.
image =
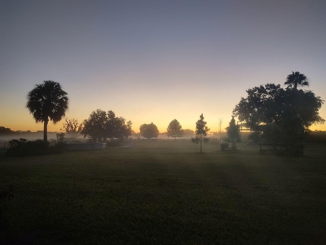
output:
M 326 100 L 325 13 L 323 0 L 0 0 L 0 126 L 43 130 L 25 104 L 45 80 L 68 93 L 68 118 L 113 110 L 135 132 L 195 130 L 202 113 L 225 129 L 247 89 L 292 71 Z

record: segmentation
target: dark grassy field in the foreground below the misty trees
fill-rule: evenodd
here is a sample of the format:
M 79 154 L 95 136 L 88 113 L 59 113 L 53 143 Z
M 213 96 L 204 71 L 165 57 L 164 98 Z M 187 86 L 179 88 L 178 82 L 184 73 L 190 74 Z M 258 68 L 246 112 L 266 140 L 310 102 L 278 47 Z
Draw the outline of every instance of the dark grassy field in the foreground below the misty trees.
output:
M 326 147 L 303 157 L 216 142 L 4 158 L 1 244 L 325 244 Z M 0 190 L 2 190 L 0 189 Z

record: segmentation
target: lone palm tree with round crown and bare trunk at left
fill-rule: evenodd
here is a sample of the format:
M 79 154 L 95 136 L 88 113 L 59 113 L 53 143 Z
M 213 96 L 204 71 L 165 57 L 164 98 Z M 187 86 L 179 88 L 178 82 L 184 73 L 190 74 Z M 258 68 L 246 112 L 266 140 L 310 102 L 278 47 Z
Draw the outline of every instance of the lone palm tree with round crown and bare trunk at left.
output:
M 47 142 L 49 120 L 56 124 L 68 110 L 69 99 L 59 83 L 44 81 L 27 94 L 26 108 L 36 122 L 44 122 L 44 142 Z

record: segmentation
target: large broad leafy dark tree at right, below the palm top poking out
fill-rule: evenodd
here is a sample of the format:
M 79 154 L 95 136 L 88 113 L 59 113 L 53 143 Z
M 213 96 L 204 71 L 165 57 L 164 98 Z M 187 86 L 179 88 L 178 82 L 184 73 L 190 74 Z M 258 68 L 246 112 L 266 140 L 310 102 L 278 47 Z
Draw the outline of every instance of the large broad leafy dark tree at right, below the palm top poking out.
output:
M 266 84 L 248 89 L 248 96 L 241 98 L 233 113 L 251 130 L 263 132 L 265 142 L 283 145 L 282 150 L 295 153 L 309 127 L 325 120 L 318 112 L 323 100 L 311 91 L 293 88 Z

